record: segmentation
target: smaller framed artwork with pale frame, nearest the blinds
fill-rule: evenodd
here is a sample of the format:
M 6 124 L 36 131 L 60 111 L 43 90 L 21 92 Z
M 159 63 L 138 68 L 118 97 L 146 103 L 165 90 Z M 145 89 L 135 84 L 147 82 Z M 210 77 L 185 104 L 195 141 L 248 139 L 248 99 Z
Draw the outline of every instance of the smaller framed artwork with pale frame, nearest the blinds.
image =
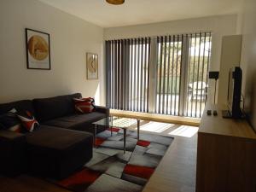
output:
M 87 79 L 98 79 L 98 55 L 86 53 Z

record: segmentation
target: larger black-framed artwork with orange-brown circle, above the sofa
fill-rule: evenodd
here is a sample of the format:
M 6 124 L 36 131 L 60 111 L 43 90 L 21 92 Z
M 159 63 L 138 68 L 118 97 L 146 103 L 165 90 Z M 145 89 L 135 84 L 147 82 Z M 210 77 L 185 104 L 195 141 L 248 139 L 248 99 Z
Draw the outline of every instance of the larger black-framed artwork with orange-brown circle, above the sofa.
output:
M 32 29 L 26 31 L 26 67 L 50 70 L 49 34 Z

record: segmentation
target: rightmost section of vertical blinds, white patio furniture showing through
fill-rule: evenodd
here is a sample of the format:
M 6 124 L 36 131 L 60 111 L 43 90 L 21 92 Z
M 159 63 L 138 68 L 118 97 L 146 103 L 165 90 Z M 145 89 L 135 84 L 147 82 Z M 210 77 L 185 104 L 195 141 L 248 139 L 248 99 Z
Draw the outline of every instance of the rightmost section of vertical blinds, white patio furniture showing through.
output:
M 212 53 L 212 33 L 189 35 L 188 91 L 185 116 L 201 117 L 207 102 L 208 69 Z

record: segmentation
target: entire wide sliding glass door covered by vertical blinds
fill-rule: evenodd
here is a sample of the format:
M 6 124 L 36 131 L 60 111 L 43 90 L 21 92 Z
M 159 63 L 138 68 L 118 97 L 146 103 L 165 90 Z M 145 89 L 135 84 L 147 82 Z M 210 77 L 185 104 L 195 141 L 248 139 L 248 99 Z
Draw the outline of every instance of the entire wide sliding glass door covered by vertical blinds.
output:
M 108 107 L 200 118 L 211 47 L 210 32 L 107 41 Z

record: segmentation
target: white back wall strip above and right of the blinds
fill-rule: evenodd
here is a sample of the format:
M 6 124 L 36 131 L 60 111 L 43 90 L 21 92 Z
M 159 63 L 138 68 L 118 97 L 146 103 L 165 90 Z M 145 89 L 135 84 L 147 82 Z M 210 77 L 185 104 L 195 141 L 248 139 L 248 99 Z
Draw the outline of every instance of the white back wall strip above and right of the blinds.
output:
M 104 39 L 137 38 L 166 34 L 181 34 L 188 32 L 212 32 L 212 64 L 210 70 L 218 71 L 221 41 L 225 35 L 234 35 L 237 30 L 237 15 L 211 16 L 189 20 L 175 20 L 155 24 L 123 26 L 104 29 Z M 214 81 L 210 81 L 210 87 Z M 212 101 L 213 89 L 210 89 L 209 99 Z M 226 90 L 219 90 L 226 91 Z

